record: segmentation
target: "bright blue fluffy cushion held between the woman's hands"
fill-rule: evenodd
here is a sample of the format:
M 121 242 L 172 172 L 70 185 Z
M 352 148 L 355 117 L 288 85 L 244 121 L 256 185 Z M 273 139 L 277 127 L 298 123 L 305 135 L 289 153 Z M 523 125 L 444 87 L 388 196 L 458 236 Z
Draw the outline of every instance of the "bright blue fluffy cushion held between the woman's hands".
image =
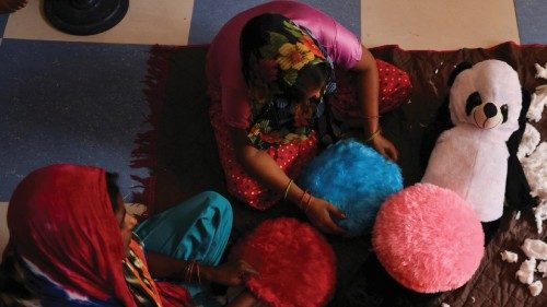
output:
M 315 157 L 299 184 L 346 212 L 346 219 L 335 222 L 358 236 L 370 231 L 384 200 L 403 189 L 403 176 L 395 163 L 372 147 L 342 140 Z

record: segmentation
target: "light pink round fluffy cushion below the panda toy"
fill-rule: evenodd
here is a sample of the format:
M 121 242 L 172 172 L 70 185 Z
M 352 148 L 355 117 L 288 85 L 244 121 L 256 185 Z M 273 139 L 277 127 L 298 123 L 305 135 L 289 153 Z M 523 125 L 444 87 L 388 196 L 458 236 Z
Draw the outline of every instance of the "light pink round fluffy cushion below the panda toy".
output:
M 455 192 L 429 184 L 406 188 L 382 204 L 372 245 L 400 284 L 421 293 L 457 288 L 477 270 L 485 235 Z

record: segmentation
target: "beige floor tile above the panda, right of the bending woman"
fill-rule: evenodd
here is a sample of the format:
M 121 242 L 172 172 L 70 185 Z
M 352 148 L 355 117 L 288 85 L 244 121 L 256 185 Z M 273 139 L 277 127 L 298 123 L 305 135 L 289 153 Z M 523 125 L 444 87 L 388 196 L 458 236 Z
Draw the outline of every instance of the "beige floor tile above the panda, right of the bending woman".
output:
M 361 38 L 407 50 L 520 43 L 513 0 L 361 0 Z

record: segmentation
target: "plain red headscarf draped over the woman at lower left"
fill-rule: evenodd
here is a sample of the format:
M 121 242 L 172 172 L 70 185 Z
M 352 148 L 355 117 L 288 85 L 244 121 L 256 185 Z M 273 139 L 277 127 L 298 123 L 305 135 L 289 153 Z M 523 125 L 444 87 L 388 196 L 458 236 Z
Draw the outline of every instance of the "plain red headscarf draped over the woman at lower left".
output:
M 57 164 L 34 170 L 13 192 L 8 227 L 16 252 L 66 291 L 136 306 L 104 169 Z

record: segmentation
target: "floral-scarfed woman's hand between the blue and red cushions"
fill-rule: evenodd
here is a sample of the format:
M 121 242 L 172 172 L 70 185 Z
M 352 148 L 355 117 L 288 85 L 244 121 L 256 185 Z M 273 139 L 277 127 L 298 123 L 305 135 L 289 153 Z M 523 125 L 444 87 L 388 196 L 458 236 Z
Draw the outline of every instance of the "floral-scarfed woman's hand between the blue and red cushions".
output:
M 305 204 L 304 204 L 305 205 Z M 304 208 L 310 222 L 319 231 L 327 234 L 342 235 L 345 231 L 333 222 L 330 216 L 346 219 L 346 214 L 331 203 L 312 196 L 310 205 Z

